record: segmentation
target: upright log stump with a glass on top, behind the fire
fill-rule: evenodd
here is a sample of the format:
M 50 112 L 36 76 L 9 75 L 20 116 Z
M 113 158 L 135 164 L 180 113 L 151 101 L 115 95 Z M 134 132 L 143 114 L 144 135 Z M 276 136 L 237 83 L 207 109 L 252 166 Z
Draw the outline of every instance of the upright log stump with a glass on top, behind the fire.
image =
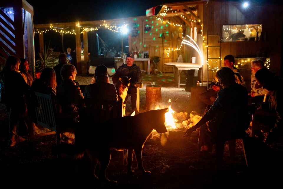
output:
M 161 87 L 160 86 L 146 86 L 146 103 L 145 109 L 149 110 L 154 104 L 161 101 Z

